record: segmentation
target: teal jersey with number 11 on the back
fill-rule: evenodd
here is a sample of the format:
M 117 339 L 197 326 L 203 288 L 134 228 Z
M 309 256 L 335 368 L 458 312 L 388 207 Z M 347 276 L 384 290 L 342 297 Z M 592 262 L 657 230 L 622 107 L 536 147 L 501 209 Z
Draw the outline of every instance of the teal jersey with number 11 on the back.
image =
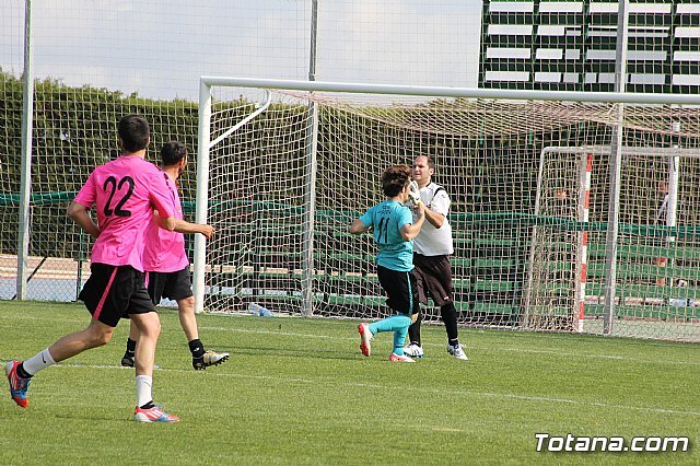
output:
M 404 241 L 401 226 L 413 223 L 411 210 L 401 202 L 385 200 L 371 207 L 360 221 L 373 226 L 374 242 L 380 252 L 376 264 L 396 271 L 409 271 L 413 268 L 413 242 Z

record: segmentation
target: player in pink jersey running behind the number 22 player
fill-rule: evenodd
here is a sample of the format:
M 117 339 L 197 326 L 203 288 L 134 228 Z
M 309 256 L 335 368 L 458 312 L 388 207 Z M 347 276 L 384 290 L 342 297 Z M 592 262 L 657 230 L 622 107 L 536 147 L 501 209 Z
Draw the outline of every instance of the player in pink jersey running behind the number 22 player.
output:
M 183 233 L 200 233 L 209 238 L 214 229 L 210 225 L 189 223 L 183 219 L 183 208 L 177 193 L 177 178 L 187 165 L 187 147 L 182 142 L 171 141 L 161 149 L 161 168 L 167 175 L 167 185 L 172 193 L 172 207 L 175 212 L 175 231 L 159 226 L 158 212 L 145 234 L 143 267 L 147 271 L 147 286 L 153 304 L 158 305 L 162 298 L 175 300 L 179 312 L 179 323 L 187 337 L 189 351 L 192 354 L 192 368 L 203 370 L 210 365 L 221 364 L 229 359 L 226 352 L 207 351 L 199 340 L 197 318 L 195 316 L 195 298 L 189 278 L 189 259 L 185 252 Z M 127 349 L 121 358 L 121 365 L 133 368 L 135 348 L 139 330 L 131 324 Z

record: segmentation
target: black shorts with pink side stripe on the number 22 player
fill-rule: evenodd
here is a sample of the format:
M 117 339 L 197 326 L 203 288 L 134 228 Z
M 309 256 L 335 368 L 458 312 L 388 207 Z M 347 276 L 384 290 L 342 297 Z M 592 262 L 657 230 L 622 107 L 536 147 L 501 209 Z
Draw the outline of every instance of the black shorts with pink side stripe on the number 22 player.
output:
M 116 327 L 129 314 L 155 312 L 143 284 L 143 272 L 131 266 L 91 264 L 91 275 L 78 296 L 95 321 Z

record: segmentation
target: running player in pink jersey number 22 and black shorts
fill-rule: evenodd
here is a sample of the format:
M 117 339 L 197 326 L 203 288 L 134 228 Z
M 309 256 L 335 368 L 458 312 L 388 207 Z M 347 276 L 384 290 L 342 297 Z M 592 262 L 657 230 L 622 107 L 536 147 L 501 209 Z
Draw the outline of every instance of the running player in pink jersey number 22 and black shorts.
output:
M 175 217 L 166 175 L 145 162 L 149 124 L 137 115 L 119 120 L 122 155 L 96 167 L 68 208 L 78 225 L 95 237 L 91 276 L 80 299 L 92 314 L 84 330 L 69 334 L 25 361 L 5 368 L 12 399 L 28 405 L 30 381 L 38 371 L 81 352 L 106 345 L 119 319 L 131 318 L 139 328 L 136 348 L 137 407 L 133 419 L 142 422 L 176 422 L 153 403 L 153 361 L 161 322 L 143 284 L 144 234 L 158 209 L 161 224 L 172 231 Z M 95 208 L 97 223 L 89 211 Z

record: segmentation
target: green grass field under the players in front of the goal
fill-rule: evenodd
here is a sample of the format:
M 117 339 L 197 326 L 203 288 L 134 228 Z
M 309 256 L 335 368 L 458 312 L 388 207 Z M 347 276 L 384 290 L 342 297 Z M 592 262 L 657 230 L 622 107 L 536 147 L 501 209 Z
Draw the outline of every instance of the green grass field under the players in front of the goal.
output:
M 359 351 L 357 322 L 200 315 L 223 365 L 196 372 L 177 314 L 161 313 L 156 403 L 176 424 L 131 421 L 128 325 L 38 373 L 19 408 L 3 382 L 0 464 L 700 464 L 700 346 L 460 329 L 470 361 L 424 326 L 427 357 Z M 82 329 L 80 304 L 0 302 L 0 360 Z M 688 436 L 689 452 L 545 453 L 535 434 Z

